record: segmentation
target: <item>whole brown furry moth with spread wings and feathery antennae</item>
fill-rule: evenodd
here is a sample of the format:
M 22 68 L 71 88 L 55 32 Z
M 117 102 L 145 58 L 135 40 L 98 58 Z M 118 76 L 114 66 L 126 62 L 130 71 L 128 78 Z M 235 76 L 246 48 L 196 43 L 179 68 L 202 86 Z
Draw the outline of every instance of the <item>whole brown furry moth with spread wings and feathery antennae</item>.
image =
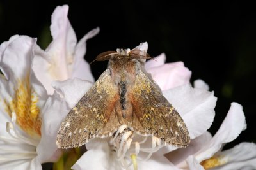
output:
M 106 138 L 121 125 L 169 145 L 188 146 L 184 121 L 145 71 L 145 59 L 150 58 L 141 50 L 100 53 L 95 60 L 109 60 L 108 68 L 63 120 L 57 146 L 74 148 Z

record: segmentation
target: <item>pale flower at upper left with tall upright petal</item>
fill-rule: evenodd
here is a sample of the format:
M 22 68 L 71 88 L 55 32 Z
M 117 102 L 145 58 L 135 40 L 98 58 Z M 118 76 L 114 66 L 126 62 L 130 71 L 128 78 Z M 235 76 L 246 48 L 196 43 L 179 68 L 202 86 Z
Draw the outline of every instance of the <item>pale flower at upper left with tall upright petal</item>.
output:
M 99 32 L 99 28 L 88 32 L 78 43 L 74 29 L 67 18 L 68 6 L 58 6 L 52 13 L 52 43 L 47 49 L 36 46 L 33 70 L 36 78 L 42 82 L 48 94 L 54 89 L 52 81 L 68 78 L 81 78 L 94 81 L 90 66 L 84 60 L 86 41 Z

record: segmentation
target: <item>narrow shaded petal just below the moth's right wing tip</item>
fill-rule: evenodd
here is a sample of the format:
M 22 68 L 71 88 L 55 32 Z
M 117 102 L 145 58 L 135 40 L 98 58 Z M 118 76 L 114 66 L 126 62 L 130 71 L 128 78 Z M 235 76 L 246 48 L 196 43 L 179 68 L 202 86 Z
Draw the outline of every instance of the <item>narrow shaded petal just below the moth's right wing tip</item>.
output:
M 202 148 L 202 145 L 211 141 L 211 139 L 211 134 L 205 131 L 201 136 L 192 139 L 188 147 L 173 150 L 172 152 L 167 153 L 165 156 L 168 158 L 168 160 L 170 160 L 170 162 L 177 165 L 177 167 L 185 168 L 187 167 L 187 164 L 184 162 L 184 160 L 186 160 L 189 155 L 193 155 L 198 152 L 198 150 Z

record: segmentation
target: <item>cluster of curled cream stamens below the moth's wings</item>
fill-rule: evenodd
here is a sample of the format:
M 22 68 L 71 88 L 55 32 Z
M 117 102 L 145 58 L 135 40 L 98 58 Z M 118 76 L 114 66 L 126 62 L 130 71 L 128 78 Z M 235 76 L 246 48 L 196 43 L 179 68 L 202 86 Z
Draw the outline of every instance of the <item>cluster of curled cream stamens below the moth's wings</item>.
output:
M 121 125 L 111 137 L 109 145 L 116 152 L 117 160 L 124 169 L 133 164 L 134 170 L 136 170 L 137 160 L 146 161 L 154 152 L 165 146 L 164 143 L 161 143 L 161 139 L 154 136 L 143 136 L 142 140 L 141 137 L 134 134 L 127 125 Z M 151 146 L 147 146 L 147 141 L 150 138 L 152 138 Z M 140 153 L 143 156 L 147 153 L 147 156 L 142 157 Z

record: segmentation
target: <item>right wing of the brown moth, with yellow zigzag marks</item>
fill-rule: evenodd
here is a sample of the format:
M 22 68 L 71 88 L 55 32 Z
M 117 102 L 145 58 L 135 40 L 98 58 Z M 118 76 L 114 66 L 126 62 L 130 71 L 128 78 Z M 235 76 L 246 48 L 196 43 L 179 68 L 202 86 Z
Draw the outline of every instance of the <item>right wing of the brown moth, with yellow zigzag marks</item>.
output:
M 190 139 L 184 121 L 141 69 L 138 69 L 129 99 L 134 107 L 132 129 L 135 132 L 156 136 L 173 146 L 188 146 Z

